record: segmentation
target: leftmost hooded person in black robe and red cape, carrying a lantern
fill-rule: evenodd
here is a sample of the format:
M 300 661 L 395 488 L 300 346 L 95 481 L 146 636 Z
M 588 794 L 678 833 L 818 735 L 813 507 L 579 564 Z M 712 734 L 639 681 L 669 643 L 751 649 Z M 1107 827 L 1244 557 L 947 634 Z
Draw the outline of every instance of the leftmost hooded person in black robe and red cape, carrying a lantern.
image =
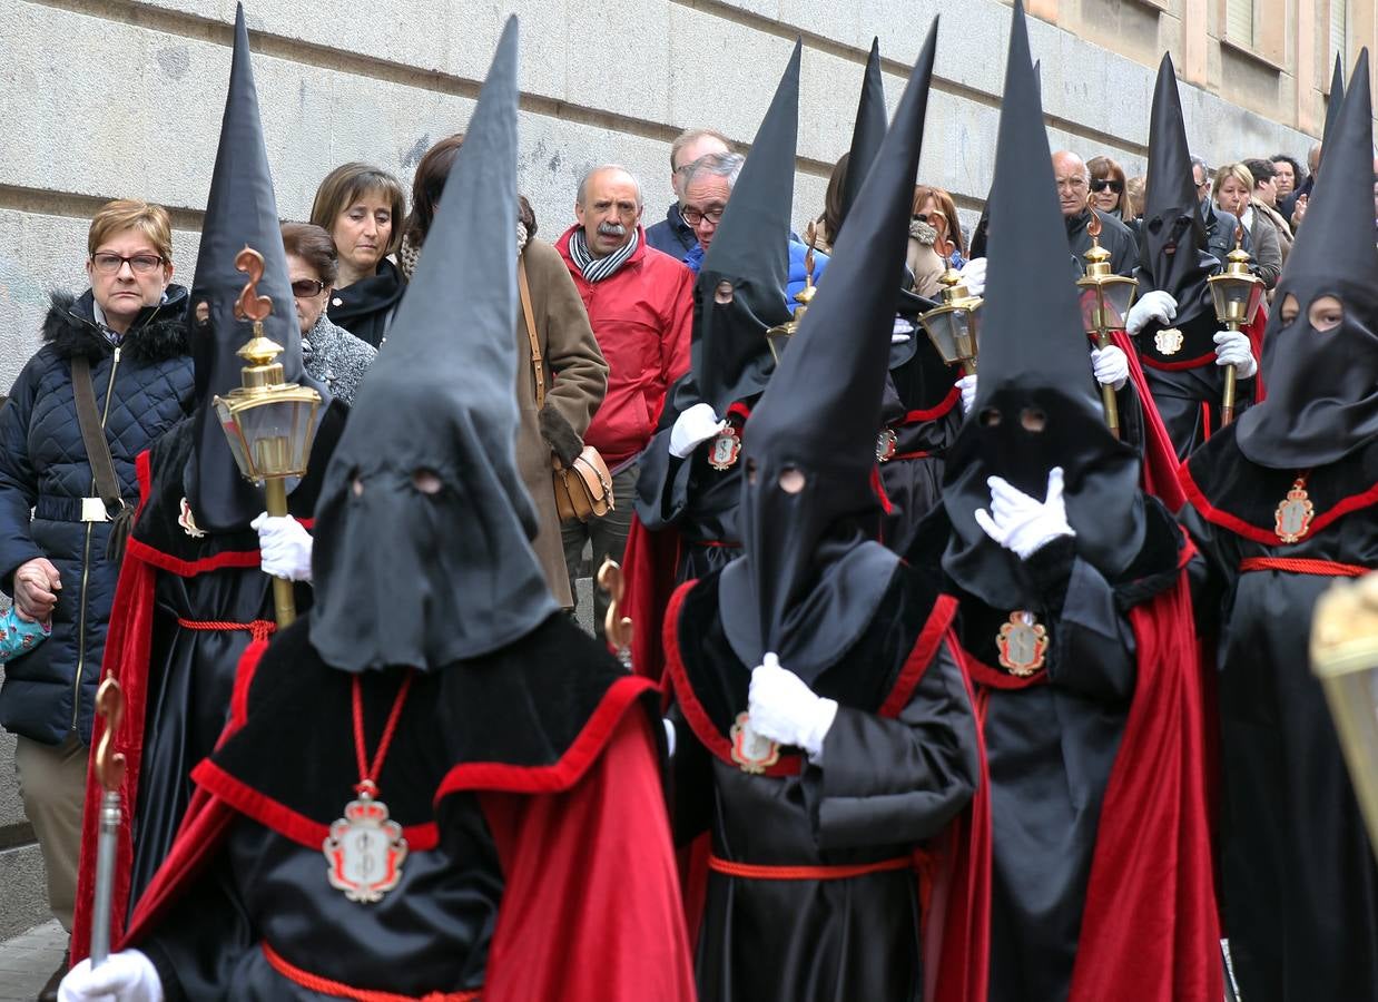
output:
M 252 324 L 234 311 L 251 278 L 236 269 L 236 258 L 245 247 L 258 251 L 263 260 L 256 295 L 271 300 L 273 311 L 263 329 L 282 346 L 277 361 L 284 378 L 310 383 L 302 367 L 300 328 L 292 310 L 248 32 L 240 8 L 220 145 L 186 321 L 196 409 L 138 459 L 139 510 L 106 641 L 105 671 L 113 673 L 125 695 L 116 747 L 128 759 L 121 794 L 134 817 L 132 826 L 120 830 L 116 936 L 127 908 L 138 900 L 172 845 L 192 795 L 192 766 L 211 753 L 227 719 L 240 656 L 251 641 L 260 641 L 276 628 L 271 579 L 260 571 L 259 538 L 251 526 L 263 510 L 262 491 L 240 474 L 212 405 L 215 396 L 240 386 L 245 361 L 236 351 L 252 336 Z M 307 474 L 288 499 L 289 509 L 303 518 L 311 511 L 344 423 L 343 404 L 332 404 L 328 394 L 322 397 Z M 298 608 L 306 608 L 310 589 L 302 586 L 296 591 Z M 98 718 L 92 748 L 103 729 Z M 73 959 L 87 952 L 101 793 L 92 769 L 87 783 Z

